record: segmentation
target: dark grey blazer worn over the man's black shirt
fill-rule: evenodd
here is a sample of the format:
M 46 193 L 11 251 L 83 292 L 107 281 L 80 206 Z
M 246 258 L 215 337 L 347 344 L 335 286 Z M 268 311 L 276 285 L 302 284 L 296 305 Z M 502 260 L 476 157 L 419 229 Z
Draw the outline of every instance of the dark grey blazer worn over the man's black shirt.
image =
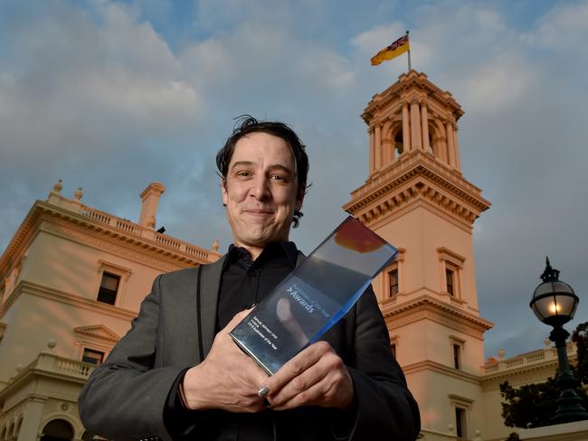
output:
M 156 277 L 131 329 L 81 391 L 80 416 L 90 432 L 115 440 L 174 439 L 164 425 L 166 399 L 179 373 L 200 363 L 200 353 L 205 357 L 213 345 L 223 261 L 202 267 L 201 296 L 196 296 L 197 268 Z M 357 411 L 348 439 L 413 440 L 420 429 L 419 411 L 390 351 L 371 288 L 323 340 L 345 361 L 354 381 Z M 339 439 L 327 423 L 332 415 L 324 408 L 276 412 L 276 437 Z M 235 439 L 218 419 L 194 421 L 202 428 L 199 439 Z

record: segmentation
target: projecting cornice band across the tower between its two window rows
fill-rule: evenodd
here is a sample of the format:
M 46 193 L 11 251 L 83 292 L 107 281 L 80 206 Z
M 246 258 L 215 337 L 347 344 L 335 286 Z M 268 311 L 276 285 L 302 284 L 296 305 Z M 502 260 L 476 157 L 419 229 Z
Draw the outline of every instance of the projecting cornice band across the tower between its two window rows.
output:
M 406 317 L 406 320 L 415 321 L 411 315 L 417 313 L 433 313 L 433 315 L 422 314 L 419 318 L 435 318 L 434 315 L 436 314 L 450 319 L 449 322 L 454 326 L 465 324 L 468 328 L 473 328 L 475 333 L 480 337 L 480 333 L 488 331 L 494 325 L 488 322 L 488 320 L 469 314 L 457 306 L 439 302 L 428 295 L 422 295 L 413 301 L 403 302 L 401 304 L 386 305 L 382 308 L 382 314 L 386 323 L 391 325 L 389 329 L 400 327 L 402 325 L 399 321 L 400 318 Z

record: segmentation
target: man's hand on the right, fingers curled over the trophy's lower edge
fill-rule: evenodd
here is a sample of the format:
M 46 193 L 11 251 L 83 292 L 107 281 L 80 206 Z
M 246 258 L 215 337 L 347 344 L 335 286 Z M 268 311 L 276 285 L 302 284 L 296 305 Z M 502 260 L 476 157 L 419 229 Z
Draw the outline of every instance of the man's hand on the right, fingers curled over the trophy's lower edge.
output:
M 345 410 L 353 403 L 353 380 L 327 342 L 316 342 L 284 364 L 263 385 L 276 410 L 321 406 Z

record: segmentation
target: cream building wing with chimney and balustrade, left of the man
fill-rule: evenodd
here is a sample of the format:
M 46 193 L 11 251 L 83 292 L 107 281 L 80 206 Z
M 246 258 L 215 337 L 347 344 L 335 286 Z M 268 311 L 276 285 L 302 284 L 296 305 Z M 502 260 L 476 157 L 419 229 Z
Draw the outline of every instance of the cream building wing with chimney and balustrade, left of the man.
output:
M 72 199 L 56 183 L 34 202 L 0 258 L 0 440 L 91 439 L 77 398 L 127 333 L 154 278 L 220 255 L 159 233 L 165 191 L 141 193 L 131 222 Z

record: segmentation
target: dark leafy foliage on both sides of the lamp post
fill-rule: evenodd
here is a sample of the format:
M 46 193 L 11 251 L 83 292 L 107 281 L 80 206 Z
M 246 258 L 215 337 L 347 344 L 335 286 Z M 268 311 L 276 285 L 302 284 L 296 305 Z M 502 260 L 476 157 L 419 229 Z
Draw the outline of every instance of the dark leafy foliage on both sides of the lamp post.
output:
M 588 322 L 579 324 L 572 334 L 576 343 L 578 362 L 571 366 L 578 379 L 576 392 L 583 399 L 583 407 L 588 408 Z M 556 376 L 555 376 L 556 378 Z M 500 384 L 500 395 L 506 402 L 502 403 L 502 418 L 507 427 L 542 427 L 552 424 L 551 418 L 557 409 L 560 390 L 555 385 L 555 378 L 548 378 L 545 383 L 526 384 L 518 389 L 508 381 Z

